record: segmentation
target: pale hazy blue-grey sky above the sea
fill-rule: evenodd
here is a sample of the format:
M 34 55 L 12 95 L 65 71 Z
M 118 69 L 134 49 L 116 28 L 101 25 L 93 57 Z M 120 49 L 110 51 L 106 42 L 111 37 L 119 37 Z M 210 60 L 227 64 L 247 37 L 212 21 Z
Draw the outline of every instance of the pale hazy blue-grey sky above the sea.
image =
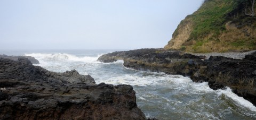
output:
M 0 49 L 162 48 L 203 0 L 0 0 Z

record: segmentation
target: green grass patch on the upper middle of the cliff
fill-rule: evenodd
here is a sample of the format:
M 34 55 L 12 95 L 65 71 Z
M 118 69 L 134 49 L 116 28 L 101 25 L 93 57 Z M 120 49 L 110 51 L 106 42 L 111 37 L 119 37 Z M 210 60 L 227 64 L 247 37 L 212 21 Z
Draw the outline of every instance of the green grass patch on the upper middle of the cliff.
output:
M 233 10 L 234 0 L 208 1 L 191 17 L 194 29 L 189 39 L 198 39 L 211 34 L 218 36 L 225 29 L 226 15 Z

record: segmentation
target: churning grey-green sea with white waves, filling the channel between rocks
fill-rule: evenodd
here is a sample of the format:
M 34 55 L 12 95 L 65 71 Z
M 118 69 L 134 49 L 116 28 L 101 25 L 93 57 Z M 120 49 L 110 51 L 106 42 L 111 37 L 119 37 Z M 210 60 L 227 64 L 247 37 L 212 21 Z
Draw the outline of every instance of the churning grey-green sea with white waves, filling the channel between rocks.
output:
M 123 61 L 100 63 L 102 54 L 116 50 L 0 50 L 0 54 L 33 56 L 49 71 L 77 70 L 97 84 L 131 84 L 137 105 L 147 118 L 256 119 L 256 107 L 230 88 L 212 90 L 181 75 L 131 70 Z

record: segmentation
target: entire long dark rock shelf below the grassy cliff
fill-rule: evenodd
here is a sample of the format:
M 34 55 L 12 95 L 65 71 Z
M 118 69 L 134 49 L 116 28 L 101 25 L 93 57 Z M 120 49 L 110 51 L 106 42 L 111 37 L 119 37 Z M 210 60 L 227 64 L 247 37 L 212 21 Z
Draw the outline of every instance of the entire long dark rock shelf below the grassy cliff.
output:
M 209 82 L 209 87 L 230 87 L 238 96 L 256 106 L 256 52 L 243 59 L 223 56 L 196 56 L 179 51 L 138 49 L 114 52 L 99 57 L 100 62 L 124 61 L 124 66 L 140 71 L 190 76 L 194 82 Z

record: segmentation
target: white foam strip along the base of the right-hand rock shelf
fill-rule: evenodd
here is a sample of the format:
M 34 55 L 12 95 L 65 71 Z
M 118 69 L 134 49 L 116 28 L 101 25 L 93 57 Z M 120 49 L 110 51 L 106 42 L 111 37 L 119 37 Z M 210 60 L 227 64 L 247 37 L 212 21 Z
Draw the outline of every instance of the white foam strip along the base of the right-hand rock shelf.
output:
M 157 74 L 157 73 L 156 73 Z M 243 107 L 249 108 L 252 111 L 256 111 L 256 107 L 243 97 L 237 96 L 230 88 L 226 90 L 212 90 L 208 82 L 203 83 L 195 83 L 190 78 L 183 77 L 181 75 L 164 75 L 164 76 L 132 76 L 132 75 L 124 75 L 118 76 L 115 78 L 110 79 L 111 83 L 118 83 L 118 84 L 131 84 L 131 85 L 138 85 L 138 86 L 147 86 L 147 85 L 169 85 L 170 87 L 177 87 L 176 89 L 180 90 L 188 90 L 188 93 L 195 93 L 195 94 L 204 94 L 204 93 L 212 93 L 216 92 L 218 95 L 224 94 L 225 96 L 233 99 L 236 104 L 241 105 Z M 166 84 L 169 83 L 169 84 Z M 170 84 L 171 83 L 171 84 Z M 191 89 L 189 89 L 191 88 Z

